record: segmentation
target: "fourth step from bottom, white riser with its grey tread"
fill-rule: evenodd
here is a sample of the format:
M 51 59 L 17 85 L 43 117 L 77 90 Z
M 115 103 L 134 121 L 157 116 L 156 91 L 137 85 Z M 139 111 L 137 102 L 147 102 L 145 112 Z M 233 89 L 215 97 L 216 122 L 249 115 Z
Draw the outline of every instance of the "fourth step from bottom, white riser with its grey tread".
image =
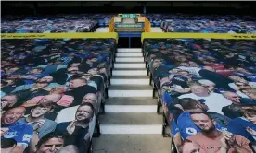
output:
M 111 85 L 149 85 L 149 76 L 112 76 Z

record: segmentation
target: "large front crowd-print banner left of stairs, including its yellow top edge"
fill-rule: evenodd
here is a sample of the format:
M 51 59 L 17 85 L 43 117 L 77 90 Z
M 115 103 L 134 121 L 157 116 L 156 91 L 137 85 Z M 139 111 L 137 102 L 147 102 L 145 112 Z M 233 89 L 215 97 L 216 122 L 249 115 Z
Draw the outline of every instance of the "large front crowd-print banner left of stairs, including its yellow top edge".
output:
M 1 151 L 86 153 L 116 39 L 115 33 L 2 34 Z

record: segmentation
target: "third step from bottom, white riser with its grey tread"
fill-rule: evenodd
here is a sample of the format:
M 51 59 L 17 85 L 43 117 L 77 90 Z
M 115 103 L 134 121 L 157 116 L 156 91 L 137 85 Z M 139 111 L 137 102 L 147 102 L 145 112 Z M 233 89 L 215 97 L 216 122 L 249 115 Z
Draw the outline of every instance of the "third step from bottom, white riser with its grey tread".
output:
M 112 85 L 108 89 L 109 97 L 152 97 L 153 88 L 149 85 Z

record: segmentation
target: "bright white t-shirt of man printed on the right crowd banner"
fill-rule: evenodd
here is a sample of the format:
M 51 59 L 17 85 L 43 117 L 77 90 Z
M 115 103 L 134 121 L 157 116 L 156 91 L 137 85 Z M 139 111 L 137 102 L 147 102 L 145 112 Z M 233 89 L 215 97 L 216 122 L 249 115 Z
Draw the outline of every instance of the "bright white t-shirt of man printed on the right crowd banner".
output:
M 204 99 L 205 104 L 209 107 L 210 112 L 217 112 L 220 114 L 224 114 L 222 112 L 223 107 L 232 104 L 231 100 L 225 99 L 224 96 L 219 93 L 211 93 L 208 97 L 199 97 L 194 93 L 189 93 L 189 94 L 179 96 L 178 98 L 179 99 L 191 98 L 194 100 Z

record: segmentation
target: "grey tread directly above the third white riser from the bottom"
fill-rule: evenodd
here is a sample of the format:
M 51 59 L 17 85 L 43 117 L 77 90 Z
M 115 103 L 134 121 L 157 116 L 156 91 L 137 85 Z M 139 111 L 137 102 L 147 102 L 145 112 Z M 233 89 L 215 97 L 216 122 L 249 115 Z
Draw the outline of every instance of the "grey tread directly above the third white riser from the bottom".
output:
M 153 90 L 153 88 L 150 85 L 112 85 L 109 86 L 109 90 Z

